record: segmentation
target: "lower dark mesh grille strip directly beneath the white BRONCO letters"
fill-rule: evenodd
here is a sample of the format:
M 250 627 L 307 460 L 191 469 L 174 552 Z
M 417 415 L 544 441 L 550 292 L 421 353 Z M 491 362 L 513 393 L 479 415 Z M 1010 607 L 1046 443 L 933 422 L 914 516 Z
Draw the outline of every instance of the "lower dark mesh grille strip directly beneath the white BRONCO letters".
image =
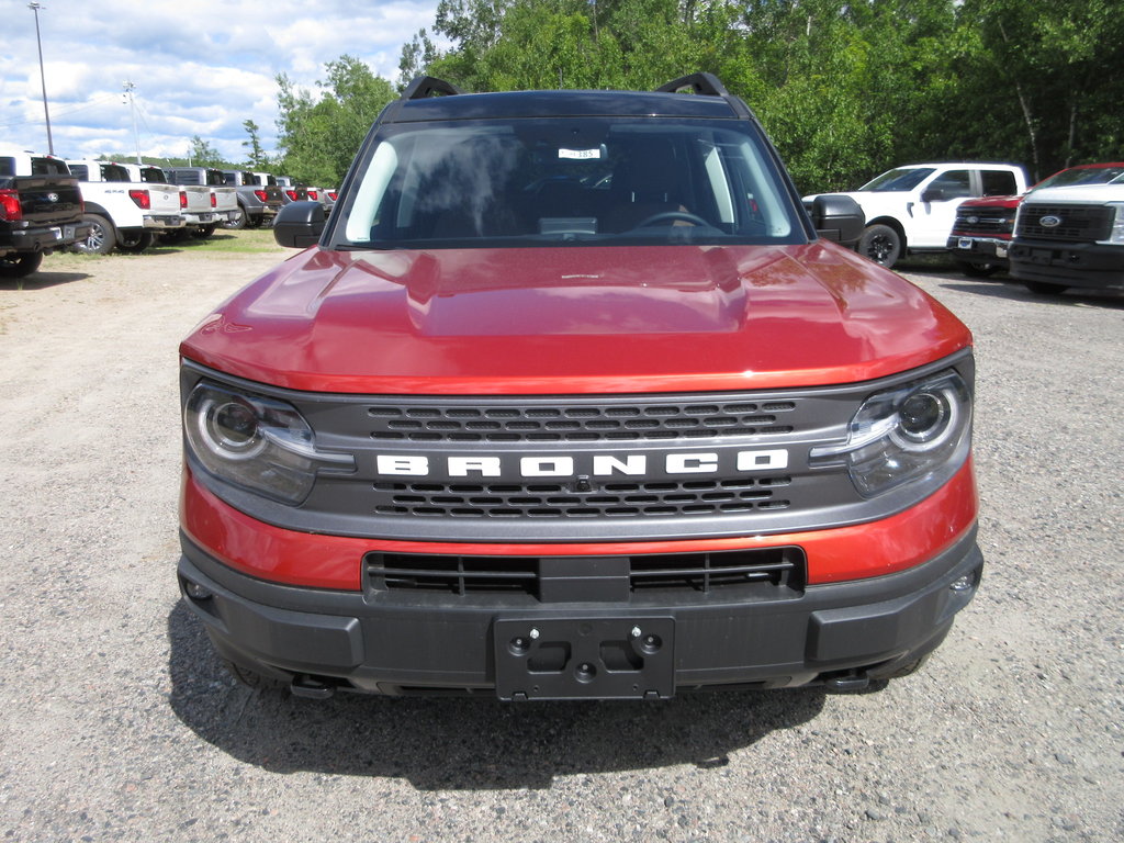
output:
M 789 477 L 605 483 L 575 492 L 561 483 L 374 484 L 379 515 L 418 518 L 625 518 L 786 509 Z

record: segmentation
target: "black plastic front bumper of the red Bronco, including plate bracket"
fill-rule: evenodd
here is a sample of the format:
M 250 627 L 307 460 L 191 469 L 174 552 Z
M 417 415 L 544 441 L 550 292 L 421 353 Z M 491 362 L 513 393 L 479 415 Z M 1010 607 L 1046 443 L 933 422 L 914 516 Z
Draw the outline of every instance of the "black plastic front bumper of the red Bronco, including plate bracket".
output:
M 182 545 L 184 602 L 219 654 L 242 668 L 294 689 L 505 699 L 663 698 L 890 677 L 941 643 L 984 566 L 973 529 L 907 571 L 808 586 L 790 599 L 633 593 L 609 605 L 504 606 L 280 586 L 230 570 L 187 537 Z

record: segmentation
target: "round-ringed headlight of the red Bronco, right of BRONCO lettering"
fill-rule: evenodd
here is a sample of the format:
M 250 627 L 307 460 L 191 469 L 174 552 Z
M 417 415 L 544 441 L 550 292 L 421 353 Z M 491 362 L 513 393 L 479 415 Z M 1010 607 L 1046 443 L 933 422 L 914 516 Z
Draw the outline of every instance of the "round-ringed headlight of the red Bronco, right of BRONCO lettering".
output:
M 963 379 L 942 372 L 871 396 L 854 414 L 843 445 L 814 447 L 812 465 L 843 462 L 867 498 L 959 464 L 968 454 L 971 396 Z

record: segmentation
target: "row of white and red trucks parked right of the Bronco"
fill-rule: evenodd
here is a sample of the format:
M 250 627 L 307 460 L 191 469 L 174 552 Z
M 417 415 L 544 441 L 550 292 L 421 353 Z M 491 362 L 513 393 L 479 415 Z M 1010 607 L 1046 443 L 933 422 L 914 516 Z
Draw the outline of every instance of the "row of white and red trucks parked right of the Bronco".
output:
M 1124 289 L 1124 163 L 1068 167 L 1033 187 L 1014 164 L 909 164 L 841 196 L 865 214 L 858 251 L 887 268 L 948 252 L 966 275 L 1008 270 L 1035 292 Z

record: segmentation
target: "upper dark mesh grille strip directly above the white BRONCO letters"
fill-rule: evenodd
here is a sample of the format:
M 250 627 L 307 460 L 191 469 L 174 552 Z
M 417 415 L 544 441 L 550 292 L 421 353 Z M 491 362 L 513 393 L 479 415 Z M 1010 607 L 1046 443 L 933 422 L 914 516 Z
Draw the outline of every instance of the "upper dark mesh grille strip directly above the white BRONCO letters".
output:
M 369 407 L 371 437 L 415 442 L 606 442 L 763 436 L 792 432 L 794 401 Z

